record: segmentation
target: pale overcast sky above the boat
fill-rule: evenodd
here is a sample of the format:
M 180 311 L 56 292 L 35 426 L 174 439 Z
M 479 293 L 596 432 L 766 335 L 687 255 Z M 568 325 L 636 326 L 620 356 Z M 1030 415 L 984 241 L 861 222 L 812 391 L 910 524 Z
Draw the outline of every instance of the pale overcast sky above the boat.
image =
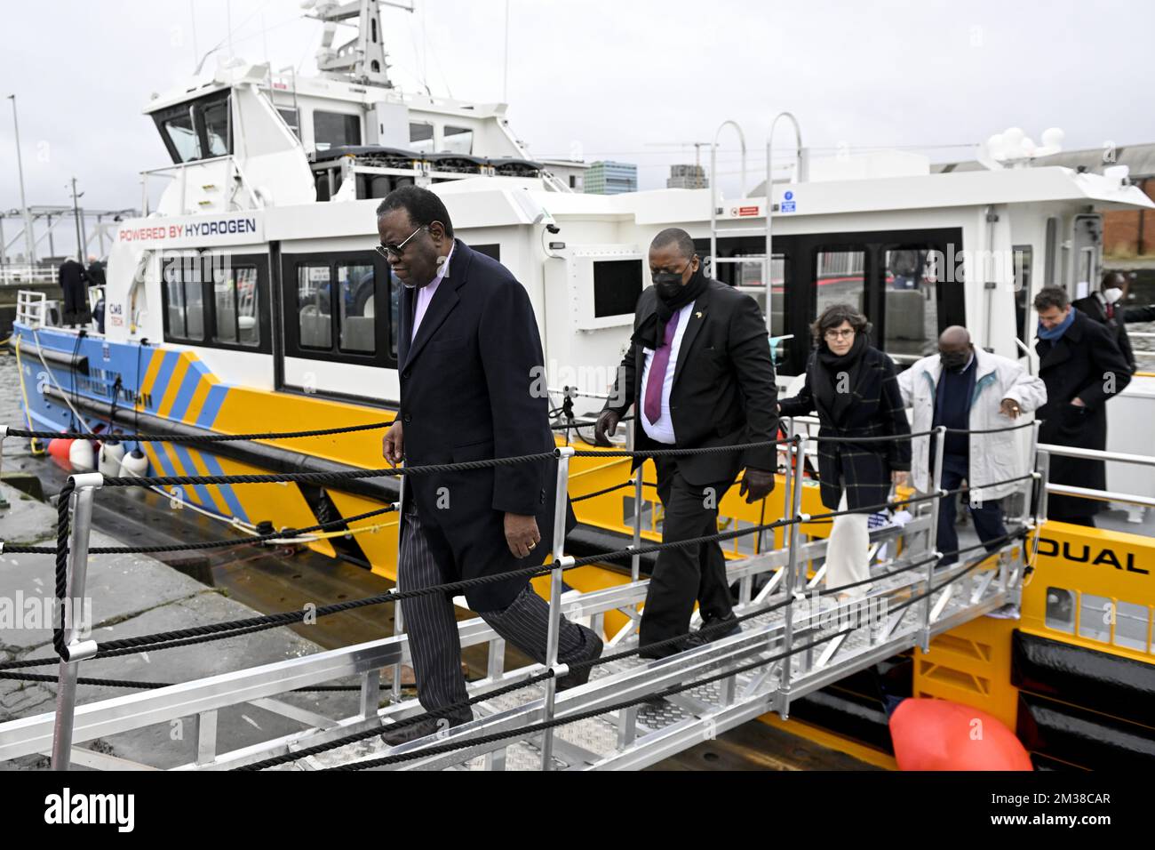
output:
M 397 86 L 502 99 L 505 0 L 415 0 L 386 8 Z M 1067 149 L 1155 141 L 1150 0 L 509 0 L 511 125 L 538 157 L 578 153 L 639 165 L 642 189 L 718 124 L 765 170 L 773 116 L 790 110 L 818 148 L 922 146 L 934 160 L 1008 126 Z M 141 108 L 211 47 L 274 68 L 315 71 L 318 22 L 297 0 L 7 0 L 0 95 L 15 94 L 31 204 L 140 204 L 137 172 L 169 162 Z M 341 34 L 343 35 L 344 30 Z M 209 62 L 214 61 L 210 57 Z M 12 102 L 0 102 L 0 208 L 20 204 Z M 778 143 L 789 147 L 785 132 Z M 737 146 L 718 171 L 736 189 Z M 703 163 L 708 156 L 703 154 Z

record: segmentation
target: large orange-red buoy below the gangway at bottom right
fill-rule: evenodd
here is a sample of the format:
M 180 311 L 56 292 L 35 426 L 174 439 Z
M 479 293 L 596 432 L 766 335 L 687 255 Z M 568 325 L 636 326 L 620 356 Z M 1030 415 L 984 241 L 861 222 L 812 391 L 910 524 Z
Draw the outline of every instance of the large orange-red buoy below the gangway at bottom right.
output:
M 948 700 L 903 700 L 891 715 L 891 739 L 900 770 L 1034 769 L 1001 720 Z

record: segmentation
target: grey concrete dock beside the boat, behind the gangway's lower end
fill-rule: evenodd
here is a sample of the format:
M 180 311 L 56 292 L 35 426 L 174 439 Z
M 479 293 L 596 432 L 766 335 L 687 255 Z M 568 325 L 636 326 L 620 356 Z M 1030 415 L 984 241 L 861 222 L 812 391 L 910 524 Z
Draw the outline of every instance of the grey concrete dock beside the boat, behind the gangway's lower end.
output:
M 0 511 L 0 539 L 51 546 L 57 513 L 50 504 L 0 485 L 10 507 Z M 122 545 L 94 531 L 91 546 Z M 92 555 L 89 559 L 87 598 L 91 599 L 92 638 L 97 642 L 192 626 L 258 616 L 260 612 L 230 599 L 144 555 Z M 0 554 L 0 661 L 54 656 L 51 623 L 44 613 L 53 601 L 51 555 Z M 20 603 L 17 609 L 17 603 Z M 299 629 L 307 629 L 300 626 Z M 84 661 L 81 677 L 179 682 L 214 673 L 316 652 L 321 646 L 292 629 L 278 627 L 240 637 L 192 644 L 161 652 Z M 30 671 L 55 675 L 57 665 Z M 356 682 L 334 682 L 349 683 Z M 55 685 L 0 679 L 0 723 L 55 710 Z M 81 685 L 77 703 L 127 693 L 125 688 Z M 383 696 L 383 695 L 382 695 Z M 330 717 L 356 710 L 357 693 L 286 694 L 284 702 Z M 194 760 L 194 724 L 165 724 L 107 740 L 77 742 L 77 747 L 105 756 L 170 768 Z M 284 716 L 246 704 L 221 711 L 218 752 L 288 734 L 303 725 Z M 79 754 L 77 761 L 83 761 Z M 103 760 L 102 767 L 110 767 Z M 0 769 L 43 769 L 46 757 L 25 757 L 0 763 Z

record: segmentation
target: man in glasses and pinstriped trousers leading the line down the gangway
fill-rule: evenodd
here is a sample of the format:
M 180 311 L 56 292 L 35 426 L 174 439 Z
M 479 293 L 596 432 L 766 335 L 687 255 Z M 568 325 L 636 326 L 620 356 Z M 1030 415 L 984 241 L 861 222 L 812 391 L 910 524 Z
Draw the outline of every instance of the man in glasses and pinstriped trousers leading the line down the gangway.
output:
M 382 452 L 405 468 L 551 452 L 549 399 L 531 392 L 544 357 L 529 295 L 505 266 L 453 236 L 441 199 L 404 186 L 377 210 L 383 254 L 404 284 L 397 363 L 401 407 Z M 552 552 L 556 461 L 405 475 L 397 585 L 402 590 L 493 576 Z M 569 513 L 572 517 L 572 512 Z M 524 577 L 465 591 L 504 638 L 545 661 L 549 605 Z M 390 745 L 472 717 L 461 675 L 452 594 L 401 603 L 422 705 L 439 718 L 386 733 Z M 602 640 L 561 620 L 558 660 L 597 658 Z M 583 683 L 589 667 L 558 688 Z

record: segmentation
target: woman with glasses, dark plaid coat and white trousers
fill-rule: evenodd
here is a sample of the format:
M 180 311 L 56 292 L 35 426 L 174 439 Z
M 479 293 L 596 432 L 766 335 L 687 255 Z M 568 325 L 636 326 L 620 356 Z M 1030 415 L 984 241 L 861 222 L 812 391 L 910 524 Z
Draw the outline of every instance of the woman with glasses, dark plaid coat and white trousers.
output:
M 817 348 L 806 363 L 806 384 L 783 399 L 783 416 L 818 413 L 818 472 L 822 504 L 836 517 L 826 555 L 826 586 L 860 596 L 870 576 L 867 517 L 886 503 L 892 485 L 906 486 L 910 470 L 910 424 L 894 362 L 870 345 L 866 317 L 849 304 L 832 304 L 811 327 Z M 841 443 L 824 437 L 879 437 Z

